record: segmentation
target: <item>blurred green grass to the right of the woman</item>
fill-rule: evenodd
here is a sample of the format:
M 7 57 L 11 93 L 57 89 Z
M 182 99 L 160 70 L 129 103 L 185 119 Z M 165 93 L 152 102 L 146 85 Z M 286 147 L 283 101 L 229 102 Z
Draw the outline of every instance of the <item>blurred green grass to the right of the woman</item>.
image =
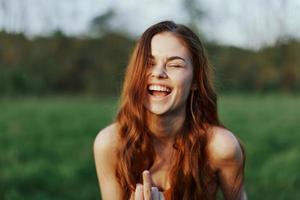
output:
M 300 97 L 225 96 L 219 107 L 246 149 L 249 199 L 300 199 Z

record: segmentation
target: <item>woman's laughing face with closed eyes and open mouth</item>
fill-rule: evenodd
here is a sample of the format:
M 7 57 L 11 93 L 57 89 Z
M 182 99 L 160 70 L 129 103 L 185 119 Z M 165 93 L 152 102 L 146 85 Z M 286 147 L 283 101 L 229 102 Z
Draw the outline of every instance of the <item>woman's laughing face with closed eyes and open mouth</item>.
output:
M 156 115 L 185 112 L 193 66 L 184 43 L 170 32 L 155 35 L 147 70 L 146 108 Z

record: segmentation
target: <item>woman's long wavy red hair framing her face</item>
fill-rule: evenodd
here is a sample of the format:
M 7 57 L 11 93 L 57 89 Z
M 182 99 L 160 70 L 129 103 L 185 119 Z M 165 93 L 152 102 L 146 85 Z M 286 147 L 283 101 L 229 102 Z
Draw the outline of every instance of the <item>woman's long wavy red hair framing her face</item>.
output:
M 195 86 L 187 99 L 183 131 L 176 135 L 173 144 L 176 153 L 169 171 L 171 199 L 211 199 L 209 184 L 216 180 L 208 164 L 208 129 L 223 126 L 218 118 L 211 67 L 196 34 L 172 21 L 157 23 L 142 34 L 126 69 L 116 118 L 120 141 L 116 177 L 122 189 L 122 199 L 130 198 L 136 183 L 142 182 L 142 172 L 150 169 L 155 160 L 143 102 L 147 91 L 146 69 L 150 64 L 151 40 L 154 35 L 163 32 L 174 34 L 190 52 Z M 237 179 L 236 191 L 233 192 L 239 192 L 242 179 Z

